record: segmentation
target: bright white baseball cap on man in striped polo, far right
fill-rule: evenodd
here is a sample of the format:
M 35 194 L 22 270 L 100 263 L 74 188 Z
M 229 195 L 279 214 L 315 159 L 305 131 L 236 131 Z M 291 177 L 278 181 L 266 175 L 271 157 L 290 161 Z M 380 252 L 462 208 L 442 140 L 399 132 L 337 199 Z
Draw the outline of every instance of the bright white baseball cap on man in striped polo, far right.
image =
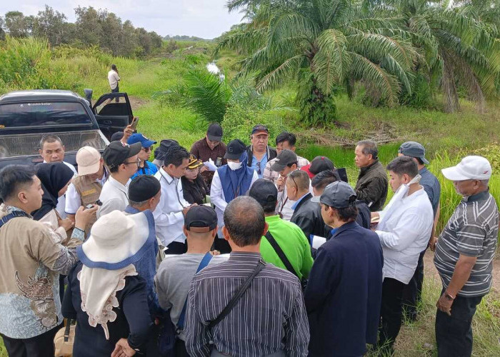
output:
M 451 181 L 488 180 L 491 165 L 483 156 L 466 156 L 458 165 L 442 169 L 443 176 Z

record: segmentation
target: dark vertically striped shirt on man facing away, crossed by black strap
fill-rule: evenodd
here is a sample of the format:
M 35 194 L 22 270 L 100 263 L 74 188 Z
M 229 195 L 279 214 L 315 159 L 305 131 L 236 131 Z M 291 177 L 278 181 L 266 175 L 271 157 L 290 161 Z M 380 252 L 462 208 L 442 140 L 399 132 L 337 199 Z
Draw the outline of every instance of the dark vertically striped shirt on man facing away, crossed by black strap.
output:
M 254 271 L 259 253 L 233 252 L 229 261 L 194 276 L 186 311 L 186 349 L 209 356 L 307 356 L 309 323 L 299 279 L 271 264 L 257 274 L 236 306 L 212 331 L 207 328 Z M 213 341 L 214 346 L 211 345 Z

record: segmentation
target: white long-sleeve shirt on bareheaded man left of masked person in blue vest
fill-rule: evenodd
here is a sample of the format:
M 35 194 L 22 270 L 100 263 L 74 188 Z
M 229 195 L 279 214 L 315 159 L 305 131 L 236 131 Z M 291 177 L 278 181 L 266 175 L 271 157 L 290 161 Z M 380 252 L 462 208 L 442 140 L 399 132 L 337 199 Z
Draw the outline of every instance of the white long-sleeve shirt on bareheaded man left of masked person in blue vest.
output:
M 182 194 L 181 181 L 167 174 L 163 168 L 160 168 L 154 177 L 161 184 L 160 202 L 153 212 L 156 236 L 160 238 L 164 246 L 172 242 L 184 243 L 186 236 L 182 231 L 184 226 L 182 210 L 189 206 L 189 203 Z

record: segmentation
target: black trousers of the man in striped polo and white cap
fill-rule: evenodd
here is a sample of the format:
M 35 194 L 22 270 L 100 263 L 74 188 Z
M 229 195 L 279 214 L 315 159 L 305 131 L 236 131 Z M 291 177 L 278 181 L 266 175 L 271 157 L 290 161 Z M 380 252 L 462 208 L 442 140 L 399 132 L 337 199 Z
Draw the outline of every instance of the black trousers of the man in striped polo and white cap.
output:
M 471 356 L 472 316 L 482 298 L 483 296 L 456 296 L 451 305 L 451 316 L 436 311 L 436 343 L 439 357 Z

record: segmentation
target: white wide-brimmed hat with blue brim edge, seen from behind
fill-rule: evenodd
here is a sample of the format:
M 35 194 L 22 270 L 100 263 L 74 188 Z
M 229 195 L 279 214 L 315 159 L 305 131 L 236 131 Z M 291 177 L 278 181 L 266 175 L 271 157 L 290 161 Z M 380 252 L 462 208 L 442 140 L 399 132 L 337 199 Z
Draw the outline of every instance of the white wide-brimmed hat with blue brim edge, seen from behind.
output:
M 145 214 L 149 213 L 149 214 Z M 89 268 L 116 270 L 138 261 L 148 238 L 154 239 L 154 221 L 149 211 L 127 215 L 112 211 L 92 226 L 89 238 L 76 249 Z

